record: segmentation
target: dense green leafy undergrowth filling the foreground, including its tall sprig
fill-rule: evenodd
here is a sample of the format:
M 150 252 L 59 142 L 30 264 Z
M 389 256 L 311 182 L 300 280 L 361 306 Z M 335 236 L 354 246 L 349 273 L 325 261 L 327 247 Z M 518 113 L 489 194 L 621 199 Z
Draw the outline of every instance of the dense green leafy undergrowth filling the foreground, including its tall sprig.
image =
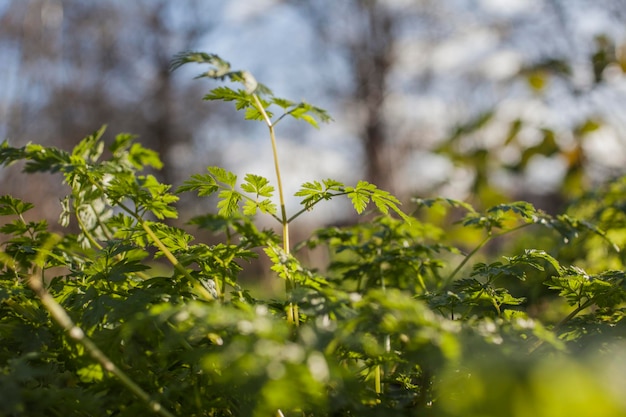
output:
M 290 215 L 274 128 L 329 116 L 215 55 L 173 66 L 188 62 L 239 83 L 206 98 L 268 126 L 276 182 L 210 167 L 172 190 L 144 173 L 158 155 L 127 134 L 106 145 L 104 129 L 71 151 L 5 142 L 3 165 L 63 175 L 61 224 L 79 232 L 53 233 L 32 204 L 0 197 L 0 415 L 626 414 L 625 178 L 554 216 L 449 199 L 401 211 L 373 184 L 327 179 L 304 184 Z M 217 201 L 185 219 L 191 230 L 222 243 L 166 221 L 189 192 Z M 295 218 L 335 198 L 378 214 L 289 242 Z M 328 264 L 305 267 L 306 248 L 327 251 Z M 284 296 L 255 298 L 240 282 L 259 251 Z

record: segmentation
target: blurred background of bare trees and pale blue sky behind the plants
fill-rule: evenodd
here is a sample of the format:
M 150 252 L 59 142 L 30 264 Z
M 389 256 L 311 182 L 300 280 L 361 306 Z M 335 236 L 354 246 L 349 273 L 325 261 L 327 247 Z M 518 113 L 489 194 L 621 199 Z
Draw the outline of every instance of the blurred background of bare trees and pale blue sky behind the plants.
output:
M 107 124 L 161 154 L 164 182 L 207 165 L 273 179 L 263 125 L 169 71 L 183 50 L 330 111 L 319 131 L 278 129 L 290 191 L 366 179 L 404 201 L 555 212 L 626 167 L 622 0 L 2 0 L 0 138 L 70 149 Z M 0 194 L 51 223 L 58 182 L 0 170 Z

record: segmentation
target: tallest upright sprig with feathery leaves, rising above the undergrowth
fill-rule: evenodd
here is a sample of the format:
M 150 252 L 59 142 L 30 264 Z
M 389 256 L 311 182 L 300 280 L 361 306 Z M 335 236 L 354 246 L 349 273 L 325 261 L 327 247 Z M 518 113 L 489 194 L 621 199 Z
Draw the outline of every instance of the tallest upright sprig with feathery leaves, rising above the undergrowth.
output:
M 275 126 L 284 117 L 291 116 L 317 127 L 318 119 L 322 122 L 328 122 L 331 120 L 330 116 L 325 110 L 308 103 L 295 103 L 284 98 L 275 97 L 271 90 L 259 84 L 252 74 L 247 71 L 232 71 L 230 64 L 215 54 L 202 52 L 182 53 L 173 60 L 172 69 L 179 68 L 187 63 L 210 65 L 208 71 L 201 73 L 196 78 L 228 79 L 241 84 L 243 87 L 237 90 L 227 86 L 214 88 L 204 97 L 205 100 L 233 101 L 237 110 L 245 110 L 246 119 L 260 120 L 267 125 L 274 158 L 280 214 L 277 213 L 276 205 L 271 200 L 274 187 L 270 185 L 268 179 L 254 174 L 248 174 L 244 178 L 244 183 L 241 184 L 241 190 L 244 192 L 242 193 L 235 189 L 237 177 L 232 172 L 225 171 L 223 168 L 209 167 L 209 174 L 194 175 L 191 180 L 186 181 L 179 188 L 179 191 L 197 191 L 200 196 L 211 195 L 219 191 L 221 201 L 217 205 L 219 209 L 218 214 L 224 217 L 232 217 L 235 212 L 239 211 L 239 203 L 241 201 L 245 201 L 243 205 L 243 214 L 245 216 L 254 216 L 257 210 L 270 214 L 282 226 L 282 248 L 285 255 L 289 255 L 291 250 L 289 224 L 305 211 L 311 210 L 322 200 L 330 200 L 337 196 L 347 195 L 358 213 L 362 213 L 371 200 L 383 213 L 387 213 L 391 209 L 399 215 L 406 217 L 397 207 L 400 202 L 388 192 L 379 190 L 374 184 L 360 181 L 355 187 L 346 187 L 343 183 L 330 179 L 322 182 L 305 183 L 302 189 L 296 193 L 296 196 L 303 198 L 302 205 L 304 208 L 293 216 L 289 216 L 285 208 L 285 197 L 278 159 L 278 145 L 274 133 Z M 278 108 L 283 113 L 272 120 L 274 114 L 271 107 Z M 276 248 L 268 248 L 268 250 L 274 252 L 270 256 L 279 255 L 276 252 Z M 287 271 L 281 274 L 281 277 L 285 279 L 286 289 L 289 293 L 297 284 L 296 278 Z M 299 323 L 297 305 L 289 305 L 287 316 L 291 323 L 296 325 Z

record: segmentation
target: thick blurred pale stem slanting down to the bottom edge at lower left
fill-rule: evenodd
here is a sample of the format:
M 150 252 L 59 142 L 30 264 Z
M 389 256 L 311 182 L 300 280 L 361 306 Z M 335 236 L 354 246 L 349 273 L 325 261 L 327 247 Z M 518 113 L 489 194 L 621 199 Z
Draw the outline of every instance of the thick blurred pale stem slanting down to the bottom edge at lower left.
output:
M 76 343 L 82 345 L 87 353 L 102 366 L 102 368 L 115 375 L 117 379 L 128 388 L 133 394 L 135 394 L 141 401 L 146 403 L 148 408 L 154 413 L 164 417 L 174 417 L 174 414 L 170 413 L 167 409 L 158 402 L 150 398 L 150 395 L 144 391 L 139 385 L 135 383 L 124 371 L 115 365 L 108 356 L 102 352 L 96 344 L 89 339 L 85 332 L 74 324 L 70 316 L 63 309 L 63 307 L 57 303 L 57 301 L 50 295 L 48 291 L 43 287 L 42 280 L 32 275 L 28 279 L 28 286 L 33 290 L 35 295 L 41 300 L 43 306 L 48 310 L 54 321 L 63 328 L 68 336 Z

